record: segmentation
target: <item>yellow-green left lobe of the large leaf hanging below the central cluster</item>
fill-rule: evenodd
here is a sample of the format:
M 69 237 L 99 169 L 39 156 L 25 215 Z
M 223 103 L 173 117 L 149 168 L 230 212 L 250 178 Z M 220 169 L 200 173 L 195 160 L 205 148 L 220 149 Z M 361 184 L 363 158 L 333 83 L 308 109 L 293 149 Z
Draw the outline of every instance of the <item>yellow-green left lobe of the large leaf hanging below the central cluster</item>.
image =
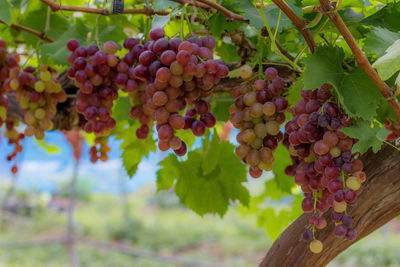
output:
M 168 190 L 179 176 L 179 161 L 174 154 L 170 154 L 159 165 L 161 169 L 157 171 L 157 191 Z

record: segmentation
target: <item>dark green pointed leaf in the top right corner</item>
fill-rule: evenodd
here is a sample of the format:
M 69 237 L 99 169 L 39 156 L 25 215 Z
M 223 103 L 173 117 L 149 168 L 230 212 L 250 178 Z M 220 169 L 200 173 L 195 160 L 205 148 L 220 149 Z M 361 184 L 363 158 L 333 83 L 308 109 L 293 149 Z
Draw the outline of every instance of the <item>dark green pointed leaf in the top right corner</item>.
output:
M 400 31 L 400 2 L 387 3 L 382 9 L 375 14 L 368 16 L 361 23 L 371 25 L 373 27 L 386 28 L 389 31 Z

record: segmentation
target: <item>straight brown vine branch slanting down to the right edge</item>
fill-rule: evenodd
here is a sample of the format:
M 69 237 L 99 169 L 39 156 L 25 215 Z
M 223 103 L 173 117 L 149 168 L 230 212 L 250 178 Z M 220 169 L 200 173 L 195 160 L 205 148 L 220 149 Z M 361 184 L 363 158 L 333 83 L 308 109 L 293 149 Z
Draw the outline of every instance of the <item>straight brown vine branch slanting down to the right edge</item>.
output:
M 389 104 L 392 106 L 392 109 L 396 113 L 398 120 L 400 120 L 400 103 L 395 96 L 394 90 L 390 88 L 381 79 L 381 77 L 379 77 L 378 73 L 368 61 L 367 56 L 358 46 L 350 30 L 347 28 L 340 15 L 336 12 L 336 7 L 332 5 L 332 2 L 330 2 L 329 0 L 319 0 L 319 2 L 321 3 L 321 6 L 318 8 L 319 12 L 324 13 L 333 22 L 333 24 L 335 24 L 336 28 L 339 30 L 340 34 L 343 36 L 344 40 L 356 57 L 357 64 L 364 70 L 368 77 L 378 87 L 383 97 L 386 98 Z

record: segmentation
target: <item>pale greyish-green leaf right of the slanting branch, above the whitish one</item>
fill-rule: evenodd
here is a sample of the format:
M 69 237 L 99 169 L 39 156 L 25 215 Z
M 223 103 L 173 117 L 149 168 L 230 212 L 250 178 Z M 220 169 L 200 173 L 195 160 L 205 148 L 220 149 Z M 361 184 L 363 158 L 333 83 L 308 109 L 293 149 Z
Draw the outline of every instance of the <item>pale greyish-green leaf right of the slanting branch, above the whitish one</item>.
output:
M 400 39 L 400 33 L 376 27 L 367 33 L 363 50 L 382 56 L 385 54 L 386 49 L 397 39 Z

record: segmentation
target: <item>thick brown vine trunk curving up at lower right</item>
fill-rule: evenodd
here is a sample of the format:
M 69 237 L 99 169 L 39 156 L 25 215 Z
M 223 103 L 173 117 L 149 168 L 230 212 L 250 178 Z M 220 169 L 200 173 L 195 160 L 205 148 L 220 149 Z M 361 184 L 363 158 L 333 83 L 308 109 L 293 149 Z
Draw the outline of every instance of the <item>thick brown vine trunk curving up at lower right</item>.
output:
M 318 230 L 316 237 L 324 249 L 313 254 L 301 235 L 308 223 L 310 214 L 303 214 L 293 222 L 275 241 L 261 262 L 261 267 L 319 267 L 327 265 L 333 258 L 353 243 L 369 235 L 400 214 L 400 152 L 389 145 L 374 154 L 368 151 L 362 156 L 367 181 L 364 191 L 355 206 L 349 208 L 353 216 L 353 226 L 358 236 L 354 241 L 336 238 L 331 222 L 324 230 Z M 324 214 L 330 221 L 330 211 Z

